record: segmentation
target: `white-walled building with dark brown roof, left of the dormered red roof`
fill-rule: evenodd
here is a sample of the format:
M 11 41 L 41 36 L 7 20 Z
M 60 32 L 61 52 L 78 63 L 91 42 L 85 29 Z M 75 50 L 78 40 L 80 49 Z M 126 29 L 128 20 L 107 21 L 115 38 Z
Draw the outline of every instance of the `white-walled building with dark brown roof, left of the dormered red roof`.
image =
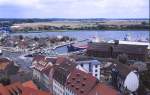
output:
M 67 58 L 58 58 L 54 67 L 53 94 L 68 95 L 70 92 L 66 90 L 66 81 L 71 71 L 76 67 L 76 64 Z M 66 94 L 66 91 L 68 92 L 68 94 Z

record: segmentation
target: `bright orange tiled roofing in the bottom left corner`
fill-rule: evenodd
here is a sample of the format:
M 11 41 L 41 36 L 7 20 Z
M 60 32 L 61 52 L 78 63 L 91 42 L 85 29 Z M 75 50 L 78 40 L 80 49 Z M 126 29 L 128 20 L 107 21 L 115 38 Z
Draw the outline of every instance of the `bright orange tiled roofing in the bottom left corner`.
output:
M 28 83 L 31 83 L 30 87 L 29 85 L 26 85 Z M 52 95 L 48 92 L 38 90 L 34 86 L 35 84 L 31 81 L 25 83 L 24 85 L 20 82 L 16 82 L 8 86 L 0 85 L 0 95 Z

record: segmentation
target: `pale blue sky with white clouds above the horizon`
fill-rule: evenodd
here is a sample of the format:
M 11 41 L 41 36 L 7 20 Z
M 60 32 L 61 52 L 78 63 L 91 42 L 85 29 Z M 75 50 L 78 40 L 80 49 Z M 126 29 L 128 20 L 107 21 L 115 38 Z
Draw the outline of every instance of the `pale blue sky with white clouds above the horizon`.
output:
M 0 0 L 0 18 L 149 18 L 149 0 Z

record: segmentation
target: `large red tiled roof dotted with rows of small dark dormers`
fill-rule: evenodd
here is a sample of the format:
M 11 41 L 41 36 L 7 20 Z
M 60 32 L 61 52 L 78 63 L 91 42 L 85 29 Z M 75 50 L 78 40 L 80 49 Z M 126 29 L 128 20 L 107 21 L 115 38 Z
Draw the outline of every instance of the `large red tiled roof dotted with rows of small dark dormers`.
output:
M 96 83 L 97 79 L 91 74 L 74 69 L 68 76 L 66 87 L 77 95 L 87 95 Z

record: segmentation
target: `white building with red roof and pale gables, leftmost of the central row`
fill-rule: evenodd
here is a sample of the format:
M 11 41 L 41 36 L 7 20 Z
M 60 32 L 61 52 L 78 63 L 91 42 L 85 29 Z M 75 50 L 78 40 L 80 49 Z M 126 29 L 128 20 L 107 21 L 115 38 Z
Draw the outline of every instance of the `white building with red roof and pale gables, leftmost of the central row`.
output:
M 50 58 L 37 56 L 33 59 L 31 66 L 33 79 L 41 83 L 46 89 L 49 89 L 50 86 L 49 73 L 54 64 L 51 61 L 52 59 Z

